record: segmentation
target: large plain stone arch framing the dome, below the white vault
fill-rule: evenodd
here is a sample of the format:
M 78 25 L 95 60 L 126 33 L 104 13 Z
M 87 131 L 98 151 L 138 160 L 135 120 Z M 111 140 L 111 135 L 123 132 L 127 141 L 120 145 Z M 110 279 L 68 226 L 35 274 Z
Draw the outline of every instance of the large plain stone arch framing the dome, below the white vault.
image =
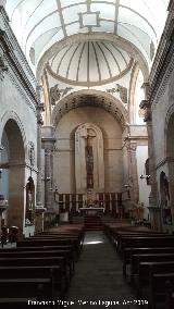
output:
M 37 81 L 41 81 L 41 75 L 45 69 L 46 63 L 48 63 L 49 59 L 54 55 L 55 52 L 63 49 L 67 45 L 73 45 L 76 42 L 84 42 L 87 40 L 105 40 L 110 42 L 114 42 L 117 47 L 124 49 L 128 54 L 130 54 L 136 62 L 138 62 L 139 67 L 144 74 L 145 83 L 148 82 L 149 77 L 149 69 L 148 63 L 142 53 L 139 49 L 133 45 L 132 42 L 127 41 L 126 39 L 115 36 L 108 33 L 92 33 L 92 34 L 76 34 L 63 39 L 61 41 L 57 41 L 53 46 L 51 46 L 41 57 L 37 65 L 36 77 Z

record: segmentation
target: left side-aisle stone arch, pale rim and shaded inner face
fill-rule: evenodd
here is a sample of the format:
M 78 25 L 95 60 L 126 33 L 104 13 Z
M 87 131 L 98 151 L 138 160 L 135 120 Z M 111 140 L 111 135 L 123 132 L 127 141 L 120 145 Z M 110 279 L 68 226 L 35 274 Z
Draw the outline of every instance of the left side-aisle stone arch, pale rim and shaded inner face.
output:
M 10 115 L 10 119 L 8 116 Z M 7 121 L 8 119 L 8 121 Z M 17 122 L 16 122 L 17 120 Z M 9 226 L 16 225 L 23 228 L 24 222 L 24 183 L 25 183 L 25 134 L 21 132 L 22 123 L 16 114 L 7 113 L 3 118 L 1 133 L 1 143 L 7 138 L 9 152 L 7 161 L 1 162 L 2 177 L 8 171 L 7 180 L 7 199 L 9 207 L 5 214 L 5 221 Z M 3 174 L 4 171 L 4 174 Z M 3 178 L 2 178 L 3 181 Z M 3 194 L 3 193 L 2 193 Z

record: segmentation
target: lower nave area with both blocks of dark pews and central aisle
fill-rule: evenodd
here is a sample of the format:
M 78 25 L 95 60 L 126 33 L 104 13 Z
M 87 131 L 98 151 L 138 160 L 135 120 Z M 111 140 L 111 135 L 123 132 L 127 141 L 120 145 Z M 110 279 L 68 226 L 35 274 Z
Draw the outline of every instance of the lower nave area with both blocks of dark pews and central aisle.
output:
M 4 309 L 173 309 L 174 236 L 128 221 L 62 224 L 0 250 Z

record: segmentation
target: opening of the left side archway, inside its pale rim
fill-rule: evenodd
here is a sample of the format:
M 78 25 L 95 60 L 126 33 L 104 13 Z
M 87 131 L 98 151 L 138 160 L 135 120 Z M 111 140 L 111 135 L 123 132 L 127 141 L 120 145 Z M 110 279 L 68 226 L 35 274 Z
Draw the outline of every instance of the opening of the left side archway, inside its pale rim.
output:
M 1 145 L 1 195 L 8 200 L 2 223 L 23 228 L 25 151 L 21 129 L 12 119 L 3 128 Z

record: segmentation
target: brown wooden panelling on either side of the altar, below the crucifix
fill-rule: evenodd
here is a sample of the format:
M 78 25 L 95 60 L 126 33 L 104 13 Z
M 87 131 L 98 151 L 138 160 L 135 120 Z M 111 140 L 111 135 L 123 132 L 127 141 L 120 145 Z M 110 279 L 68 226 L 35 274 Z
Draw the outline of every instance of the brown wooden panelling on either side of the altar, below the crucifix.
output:
M 78 212 L 79 208 L 86 207 L 86 195 L 83 194 L 54 194 L 58 211 Z M 123 215 L 122 193 L 96 194 L 97 207 L 104 208 L 105 213 Z

